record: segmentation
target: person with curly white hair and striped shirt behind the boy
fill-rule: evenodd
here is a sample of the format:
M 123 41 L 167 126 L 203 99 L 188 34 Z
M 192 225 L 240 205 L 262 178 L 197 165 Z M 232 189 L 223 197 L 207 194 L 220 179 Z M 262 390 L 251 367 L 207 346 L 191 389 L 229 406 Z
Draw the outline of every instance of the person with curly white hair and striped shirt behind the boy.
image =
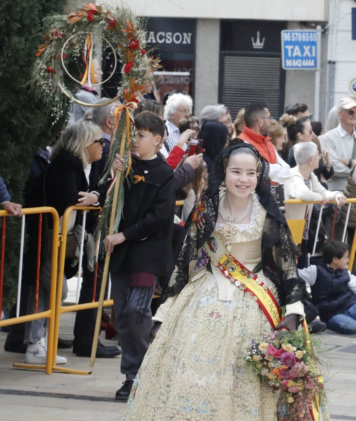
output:
M 192 114 L 193 100 L 188 94 L 172 94 L 164 107 L 164 119 L 166 120 L 167 139 L 165 146 L 168 152 L 177 144 L 180 138 L 179 122 Z

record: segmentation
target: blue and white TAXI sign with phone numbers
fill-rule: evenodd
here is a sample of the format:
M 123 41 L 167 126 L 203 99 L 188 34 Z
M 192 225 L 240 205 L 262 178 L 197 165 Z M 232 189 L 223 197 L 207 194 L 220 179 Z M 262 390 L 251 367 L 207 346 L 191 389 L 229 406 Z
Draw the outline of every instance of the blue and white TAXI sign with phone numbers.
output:
M 316 70 L 318 63 L 317 32 L 314 30 L 284 30 L 282 68 L 285 70 Z

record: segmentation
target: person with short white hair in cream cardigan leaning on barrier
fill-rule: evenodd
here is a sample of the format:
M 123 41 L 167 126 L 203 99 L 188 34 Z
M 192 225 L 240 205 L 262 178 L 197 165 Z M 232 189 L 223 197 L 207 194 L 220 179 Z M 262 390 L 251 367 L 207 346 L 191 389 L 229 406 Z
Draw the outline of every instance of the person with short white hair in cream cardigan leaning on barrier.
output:
M 341 206 L 346 197 L 339 191 L 326 190 L 318 181 L 313 171 L 318 168 L 320 154 L 313 142 L 301 142 L 294 145 L 294 158 L 297 166 L 291 168 L 290 178 L 284 183 L 284 196 L 286 199 L 300 199 L 304 202 L 317 202 L 320 206 L 333 200 Z M 301 244 L 302 256 L 298 267 L 304 267 L 306 257 L 306 240 L 313 206 L 307 204 L 286 204 L 286 219 L 305 219 L 303 240 Z

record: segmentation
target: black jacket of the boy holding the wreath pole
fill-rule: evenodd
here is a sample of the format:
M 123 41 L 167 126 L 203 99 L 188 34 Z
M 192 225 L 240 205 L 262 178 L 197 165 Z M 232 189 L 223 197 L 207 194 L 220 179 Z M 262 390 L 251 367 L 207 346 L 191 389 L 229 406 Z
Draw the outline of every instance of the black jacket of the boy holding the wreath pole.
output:
M 126 241 L 114 247 L 110 270 L 166 276 L 172 266 L 175 188 L 172 168 L 160 158 L 132 159 L 133 175 L 125 180 L 119 232 Z M 134 184 L 134 176 L 145 181 Z

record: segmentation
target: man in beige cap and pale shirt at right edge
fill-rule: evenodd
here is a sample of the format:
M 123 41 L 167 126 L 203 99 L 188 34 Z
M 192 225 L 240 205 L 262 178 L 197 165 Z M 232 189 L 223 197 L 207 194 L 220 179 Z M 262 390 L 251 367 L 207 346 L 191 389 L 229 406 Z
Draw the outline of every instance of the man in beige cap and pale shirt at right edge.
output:
M 321 148 L 329 153 L 334 174 L 327 180 L 329 190 L 343 191 L 350 169 L 356 164 L 356 101 L 342 98 L 337 104 L 340 124 L 320 137 Z

